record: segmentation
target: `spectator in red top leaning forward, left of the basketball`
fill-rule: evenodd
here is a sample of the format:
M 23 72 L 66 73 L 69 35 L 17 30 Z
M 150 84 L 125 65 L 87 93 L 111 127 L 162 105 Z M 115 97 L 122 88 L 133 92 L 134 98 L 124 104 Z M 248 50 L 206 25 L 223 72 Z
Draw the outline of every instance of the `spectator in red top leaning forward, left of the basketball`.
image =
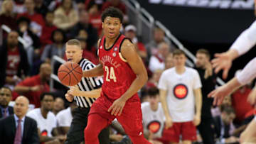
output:
M 40 95 L 43 92 L 50 91 L 50 87 L 47 83 L 50 79 L 50 73 L 50 64 L 43 63 L 41 64 L 39 74 L 24 79 L 14 88 L 14 91 L 18 92 L 19 94 L 24 94 L 29 99 L 31 104 L 33 104 L 36 108 L 39 108 L 41 106 Z

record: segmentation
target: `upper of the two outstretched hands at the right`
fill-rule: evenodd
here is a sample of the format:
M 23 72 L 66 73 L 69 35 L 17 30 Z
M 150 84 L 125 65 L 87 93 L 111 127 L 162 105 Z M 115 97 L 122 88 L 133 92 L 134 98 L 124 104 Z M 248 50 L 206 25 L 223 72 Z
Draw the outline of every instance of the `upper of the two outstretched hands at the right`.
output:
M 214 72 L 218 73 L 220 70 L 223 70 L 223 79 L 226 79 L 228 77 L 228 71 L 232 66 L 232 58 L 230 53 L 216 53 L 214 56 L 215 58 L 211 60 L 213 63 L 213 68 L 215 68 Z

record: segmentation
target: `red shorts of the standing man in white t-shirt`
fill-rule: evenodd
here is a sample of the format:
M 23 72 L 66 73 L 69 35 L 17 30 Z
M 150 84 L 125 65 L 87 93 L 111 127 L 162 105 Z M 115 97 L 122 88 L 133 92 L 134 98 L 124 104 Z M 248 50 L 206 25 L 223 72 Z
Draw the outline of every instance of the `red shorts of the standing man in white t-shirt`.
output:
M 178 143 L 180 135 L 182 140 L 196 140 L 196 126 L 193 125 L 193 121 L 173 123 L 171 128 L 164 129 L 162 139 Z

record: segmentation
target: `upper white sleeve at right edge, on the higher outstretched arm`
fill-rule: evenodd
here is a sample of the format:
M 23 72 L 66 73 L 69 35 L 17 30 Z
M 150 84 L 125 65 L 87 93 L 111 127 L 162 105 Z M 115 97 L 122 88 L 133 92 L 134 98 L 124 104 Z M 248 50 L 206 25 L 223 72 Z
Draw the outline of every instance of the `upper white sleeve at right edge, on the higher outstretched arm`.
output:
M 243 55 L 256 44 L 256 21 L 250 28 L 243 31 L 235 40 L 230 49 L 238 50 L 238 55 Z

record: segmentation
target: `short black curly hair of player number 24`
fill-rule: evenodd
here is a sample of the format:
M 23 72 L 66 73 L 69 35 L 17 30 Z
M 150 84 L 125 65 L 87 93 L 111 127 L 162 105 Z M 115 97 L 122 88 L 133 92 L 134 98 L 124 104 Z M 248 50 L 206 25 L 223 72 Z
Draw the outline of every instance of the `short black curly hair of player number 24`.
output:
M 119 18 L 121 23 L 124 18 L 122 11 L 112 6 L 102 12 L 102 22 L 105 21 L 105 18 L 107 18 L 107 16 L 110 16 L 112 18 Z

